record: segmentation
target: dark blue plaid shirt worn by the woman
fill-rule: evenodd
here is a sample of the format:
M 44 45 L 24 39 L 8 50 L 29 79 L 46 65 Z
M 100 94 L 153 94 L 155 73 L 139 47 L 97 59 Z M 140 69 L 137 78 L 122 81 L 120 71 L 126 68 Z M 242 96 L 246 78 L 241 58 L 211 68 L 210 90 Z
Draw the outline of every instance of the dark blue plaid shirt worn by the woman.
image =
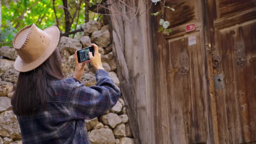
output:
M 53 81 L 47 90 L 46 110 L 17 115 L 23 144 L 90 144 L 85 119 L 105 114 L 120 97 L 105 70 L 96 71 L 96 86 L 75 78 Z

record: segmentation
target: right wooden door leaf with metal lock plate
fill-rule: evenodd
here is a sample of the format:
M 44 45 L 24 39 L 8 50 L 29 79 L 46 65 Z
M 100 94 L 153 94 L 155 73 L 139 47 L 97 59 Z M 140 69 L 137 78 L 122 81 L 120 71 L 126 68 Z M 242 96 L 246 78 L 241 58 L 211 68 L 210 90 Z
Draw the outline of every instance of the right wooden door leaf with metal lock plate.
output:
M 220 144 L 256 143 L 256 0 L 208 0 Z

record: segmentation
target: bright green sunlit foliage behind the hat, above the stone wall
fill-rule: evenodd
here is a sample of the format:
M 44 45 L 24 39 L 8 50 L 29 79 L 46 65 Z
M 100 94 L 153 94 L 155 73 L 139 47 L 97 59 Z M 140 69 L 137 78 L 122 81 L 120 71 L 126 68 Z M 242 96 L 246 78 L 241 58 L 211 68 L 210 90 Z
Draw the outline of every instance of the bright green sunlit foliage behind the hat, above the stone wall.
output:
M 4 2 L 3 2 L 4 1 Z M 15 33 L 24 26 L 35 23 L 40 29 L 56 25 L 56 17 L 53 10 L 53 0 L 3 0 L 2 1 L 2 21 L 0 42 L 10 42 Z M 89 0 L 89 6 L 99 3 L 101 0 Z M 85 3 L 84 0 L 68 0 L 69 13 L 73 17 L 76 7 L 80 5 L 79 16 L 75 16 L 71 30 L 80 29 L 85 23 Z M 59 20 L 59 29 L 65 32 L 65 15 L 62 0 L 55 0 L 56 16 Z M 78 13 L 78 12 L 77 12 Z M 89 20 L 97 20 L 96 13 L 89 13 Z M 71 22 L 72 19 L 70 19 Z

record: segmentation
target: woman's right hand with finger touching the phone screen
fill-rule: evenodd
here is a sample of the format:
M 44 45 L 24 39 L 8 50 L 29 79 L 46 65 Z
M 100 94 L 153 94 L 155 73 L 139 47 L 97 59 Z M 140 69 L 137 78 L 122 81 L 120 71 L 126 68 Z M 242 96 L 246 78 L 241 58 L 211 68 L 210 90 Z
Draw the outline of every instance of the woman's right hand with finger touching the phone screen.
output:
M 92 43 L 91 46 L 94 47 L 94 56 L 92 56 L 92 52 L 89 52 L 90 62 L 91 62 L 91 64 L 92 64 L 92 66 L 93 66 L 96 70 L 97 70 L 97 69 L 103 69 L 101 54 L 98 53 L 98 46 L 95 45 L 94 43 Z

